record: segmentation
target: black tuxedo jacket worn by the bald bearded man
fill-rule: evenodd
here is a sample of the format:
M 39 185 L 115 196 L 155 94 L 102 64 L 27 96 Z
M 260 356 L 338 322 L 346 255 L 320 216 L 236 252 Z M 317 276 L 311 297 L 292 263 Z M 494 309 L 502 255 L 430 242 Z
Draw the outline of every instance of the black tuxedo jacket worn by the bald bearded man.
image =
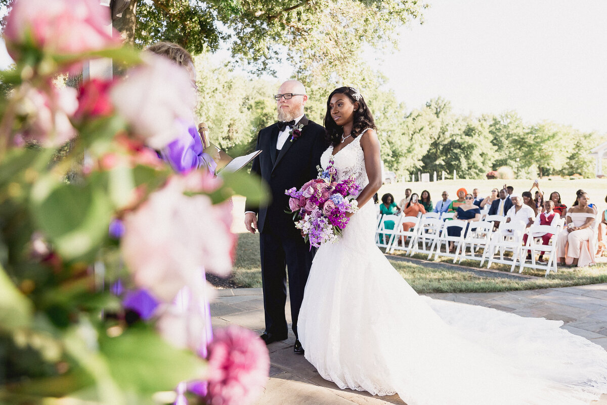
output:
M 277 123 L 263 128 L 257 135 L 256 149 L 262 149 L 262 152 L 253 159 L 251 174 L 258 175 L 270 186 L 271 200 L 264 206 L 247 202 L 245 211 L 257 213 L 260 232 L 271 229 L 280 235 L 301 237 L 295 228 L 293 214 L 285 213 L 285 210 L 289 211 L 289 197 L 285 191 L 293 187 L 299 190 L 308 180 L 316 179 L 316 166 L 320 165 L 320 155 L 327 149 L 327 141 L 325 129 L 305 115 L 297 124 L 304 126 L 300 137 L 293 141 L 287 138 L 278 153 L 276 142 L 280 130 Z

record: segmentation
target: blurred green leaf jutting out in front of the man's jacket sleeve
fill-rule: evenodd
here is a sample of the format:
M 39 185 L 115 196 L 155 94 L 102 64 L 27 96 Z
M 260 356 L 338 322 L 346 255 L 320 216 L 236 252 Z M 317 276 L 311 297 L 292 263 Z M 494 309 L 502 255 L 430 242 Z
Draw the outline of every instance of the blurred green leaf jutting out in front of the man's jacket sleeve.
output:
M 238 171 L 220 174 L 222 188 L 211 194 L 213 203 L 222 202 L 234 194 L 246 197 L 248 203 L 260 205 L 268 202 L 270 191 L 261 180 L 253 180 L 248 173 Z M 261 185 L 261 186 L 260 186 Z

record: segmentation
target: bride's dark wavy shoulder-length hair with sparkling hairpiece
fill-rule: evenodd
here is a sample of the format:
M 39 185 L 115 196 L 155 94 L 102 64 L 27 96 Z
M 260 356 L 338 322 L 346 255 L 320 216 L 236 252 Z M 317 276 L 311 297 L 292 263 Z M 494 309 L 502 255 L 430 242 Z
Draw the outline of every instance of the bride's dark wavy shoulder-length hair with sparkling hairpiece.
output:
M 369 107 L 367 103 L 365 103 L 365 99 L 362 98 L 362 95 L 358 92 L 358 90 L 353 87 L 339 87 L 329 95 L 327 98 L 327 114 L 325 115 L 325 136 L 327 137 L 327 142 L 331 143 L 333 146 L 336 146 L 341 141 L 341 136 L 344 134 L 344 128 L 337 125 L 335 121 L 333 121 L 333 117 L 331 117 L 331 107 L 329 104 L 331 103 L 331 97 L 336 94 L 344 94 L 350 101 L 354 103 L 358 103 L 358 109 L 354 110 L 354 126 L 352 127 L 352 137 L 356 138 L 367 128 L 377 129 L 375 126 L 375 120 L 373 120 L 373 115 L 371 115 L 371 111 L 369 111 Z

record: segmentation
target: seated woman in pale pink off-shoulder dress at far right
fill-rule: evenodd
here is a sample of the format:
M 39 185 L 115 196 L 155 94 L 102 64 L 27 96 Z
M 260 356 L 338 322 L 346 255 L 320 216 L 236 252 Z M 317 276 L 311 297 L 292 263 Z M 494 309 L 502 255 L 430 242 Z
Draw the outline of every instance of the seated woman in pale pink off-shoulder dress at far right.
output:
M 567 226 L 558 234 L 557 256 L 560 265 L 584 267 L 594 264 L 594 210 L 588 206 L 588 194 L 582 192 L 578 204 L 567 215 Z M 592 253 L 591 253 L 592 252 Z

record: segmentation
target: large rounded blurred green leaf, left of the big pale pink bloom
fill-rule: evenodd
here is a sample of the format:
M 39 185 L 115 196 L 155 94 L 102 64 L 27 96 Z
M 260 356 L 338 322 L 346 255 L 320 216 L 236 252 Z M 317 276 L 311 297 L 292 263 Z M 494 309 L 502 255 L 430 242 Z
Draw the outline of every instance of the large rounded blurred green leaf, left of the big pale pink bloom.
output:
M 107 236 L 112 204 L 95 177 L 84 186 L 58 183 L 50 175 L 32 188 L 36 223 L 65 259 L 93 254 Z

